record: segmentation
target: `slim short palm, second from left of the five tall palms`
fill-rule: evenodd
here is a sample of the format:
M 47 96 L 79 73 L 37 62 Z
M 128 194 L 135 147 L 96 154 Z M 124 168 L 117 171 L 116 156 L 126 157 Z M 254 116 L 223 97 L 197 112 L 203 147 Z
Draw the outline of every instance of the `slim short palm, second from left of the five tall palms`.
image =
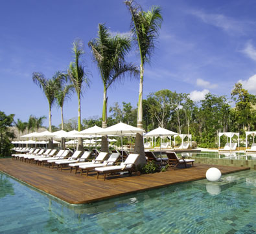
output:
M 64 101 L 67 98 L 70 98 L 71 93 L 74 91 L 73 85 L 67 85 L 67 75 L 62 72 L 56 72 L 54 78 L 56 79 L 57 89 L 55 90 L 55 98 L 58 106 L 61 110 L 61 118 L 62 118 L 62 130 L 64 130 L 64 117 L 63 117 L 63 106 Z M 65 138 L 62 138 L 61 148 L 65 149 Z

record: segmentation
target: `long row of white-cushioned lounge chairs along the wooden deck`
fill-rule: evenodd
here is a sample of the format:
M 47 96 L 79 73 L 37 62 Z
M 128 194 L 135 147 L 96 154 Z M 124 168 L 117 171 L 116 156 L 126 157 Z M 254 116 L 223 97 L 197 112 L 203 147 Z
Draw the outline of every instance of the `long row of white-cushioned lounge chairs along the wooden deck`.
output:
M 25 154 L 12 154 L 13 159 L 19 159 L 24 162 L 35 162 L 38 165 L 48 164 L 49 167 L 57 166 L 57 169 L 64 166 L 70 167 L 70 172 L 75 168 L 75 173 L 79 168 L 81 171 L 81 175 L 83 171 L 86 171 L 86 176 L 89 171 L 95 169 L 97 171 L 97 178 L 99 178 L 99 174 L 103 173 L 104 180 L 106 179 L 106 175 L 109 173 L 117 172 L 117 171 L 128 171 L 128 173 L 132 173 L 132 170 L 135 166 L 135 161 L 139 158 L 139 154 L 129 154 L 126 158 L 125 162 L 122 162 L 121 165 L 115 165 L 117 159 L 121 156 L 120 153 L 111 153 L 108 158 L 109 153 L 101 152 L 91 162 L 86 162 L 91 155 L 91 151 L 85 151 L 82 154 L 82 151 L 75 151 L 69 158 L 67 158 L 69 154 L 69 150 L 60 150 L 56 153 L 56 149 L 31 149 L 29 153 Z M 108 160 L 106 160 L 108 158 Z

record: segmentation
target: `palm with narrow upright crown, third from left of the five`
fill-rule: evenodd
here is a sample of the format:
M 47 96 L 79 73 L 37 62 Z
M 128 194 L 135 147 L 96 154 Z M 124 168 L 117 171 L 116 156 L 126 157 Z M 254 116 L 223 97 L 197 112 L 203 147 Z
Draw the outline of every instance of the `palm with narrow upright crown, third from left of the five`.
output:
M 86 74 L 85 67 L 80 61 L 84 54 L 83 43 L 80 39 L 73 42 L 74 61 L 70 63 L 67 70 L 68 78 L 73 83 L 78 98 L 78 131 L 82 130 L 81 124 L 81 96 L 83 87 L 89 87 L 89 78 Z M 83 151 L 82 138 L 78 138 L 77 150 Z

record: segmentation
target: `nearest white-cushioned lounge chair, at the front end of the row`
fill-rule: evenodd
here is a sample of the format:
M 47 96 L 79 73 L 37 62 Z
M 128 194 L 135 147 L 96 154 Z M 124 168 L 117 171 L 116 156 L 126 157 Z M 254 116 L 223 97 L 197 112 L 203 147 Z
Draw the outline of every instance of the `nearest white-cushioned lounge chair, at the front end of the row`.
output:
M 134 169 L 135 162 L 138 158 L 139 154 L 129 154 L 129 156 L 126 158 L 124 162 L 121 163 L 121 165 L 112 165 L 109 167 L 95 168 L 95 171 L 97 171 L 97 179 L 99 178 L 100 173 L 104 174 L 104 180 L 106 179 L 106 175 L 108 173 L 128 171 L 130 175 L 132 175 L 132 170 Z

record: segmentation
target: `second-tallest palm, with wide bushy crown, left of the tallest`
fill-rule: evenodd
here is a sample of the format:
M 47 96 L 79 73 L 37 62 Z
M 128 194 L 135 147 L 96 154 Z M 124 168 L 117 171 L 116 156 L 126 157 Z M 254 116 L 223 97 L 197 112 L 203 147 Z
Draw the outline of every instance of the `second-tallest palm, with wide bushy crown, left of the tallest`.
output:
M 131 48 L 130 39 L 121 36 L 110 36 L 104 24 L 99 24 L 98 37 L 89 41 L 88 45 L 97 63 L 103 83 L 102 127 L 105 128 L 107 127 L 108 88 L 113 82 L 124 78 L 124 74 L 127 72 L 136 74 L 139 70 L 134 64 L 126 63 L 124 59 Z M 108 140 L 104 136 L 101 145 L 101 150 L 108 152 Z

